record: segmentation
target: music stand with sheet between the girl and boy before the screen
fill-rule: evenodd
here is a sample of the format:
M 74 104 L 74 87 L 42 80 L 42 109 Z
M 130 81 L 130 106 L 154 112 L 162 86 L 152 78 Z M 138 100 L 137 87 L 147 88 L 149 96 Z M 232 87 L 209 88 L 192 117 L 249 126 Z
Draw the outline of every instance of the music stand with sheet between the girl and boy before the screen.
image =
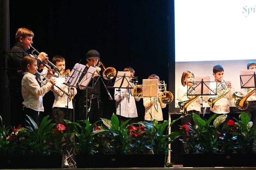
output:
M 187 89 L 187 96 L 201 96 L 201 113 L 203 113 L 203 98 L 202 96 L 216 96 L 217 95 L 217 82 L 210 82 L 210 76 L 198 76 L 195 78 L 195 82 L 188 82 L 194 85 L 194 88 L 188 92 L 189 88 Z M 210 89 L 210 83 L 216 83 L 216 92 Z M 194 92 L 193 92 L 194 91 Z M 211 94 L 211 92 L 213 94 Z M 194 94 L 193 94 L 194 93 Z

